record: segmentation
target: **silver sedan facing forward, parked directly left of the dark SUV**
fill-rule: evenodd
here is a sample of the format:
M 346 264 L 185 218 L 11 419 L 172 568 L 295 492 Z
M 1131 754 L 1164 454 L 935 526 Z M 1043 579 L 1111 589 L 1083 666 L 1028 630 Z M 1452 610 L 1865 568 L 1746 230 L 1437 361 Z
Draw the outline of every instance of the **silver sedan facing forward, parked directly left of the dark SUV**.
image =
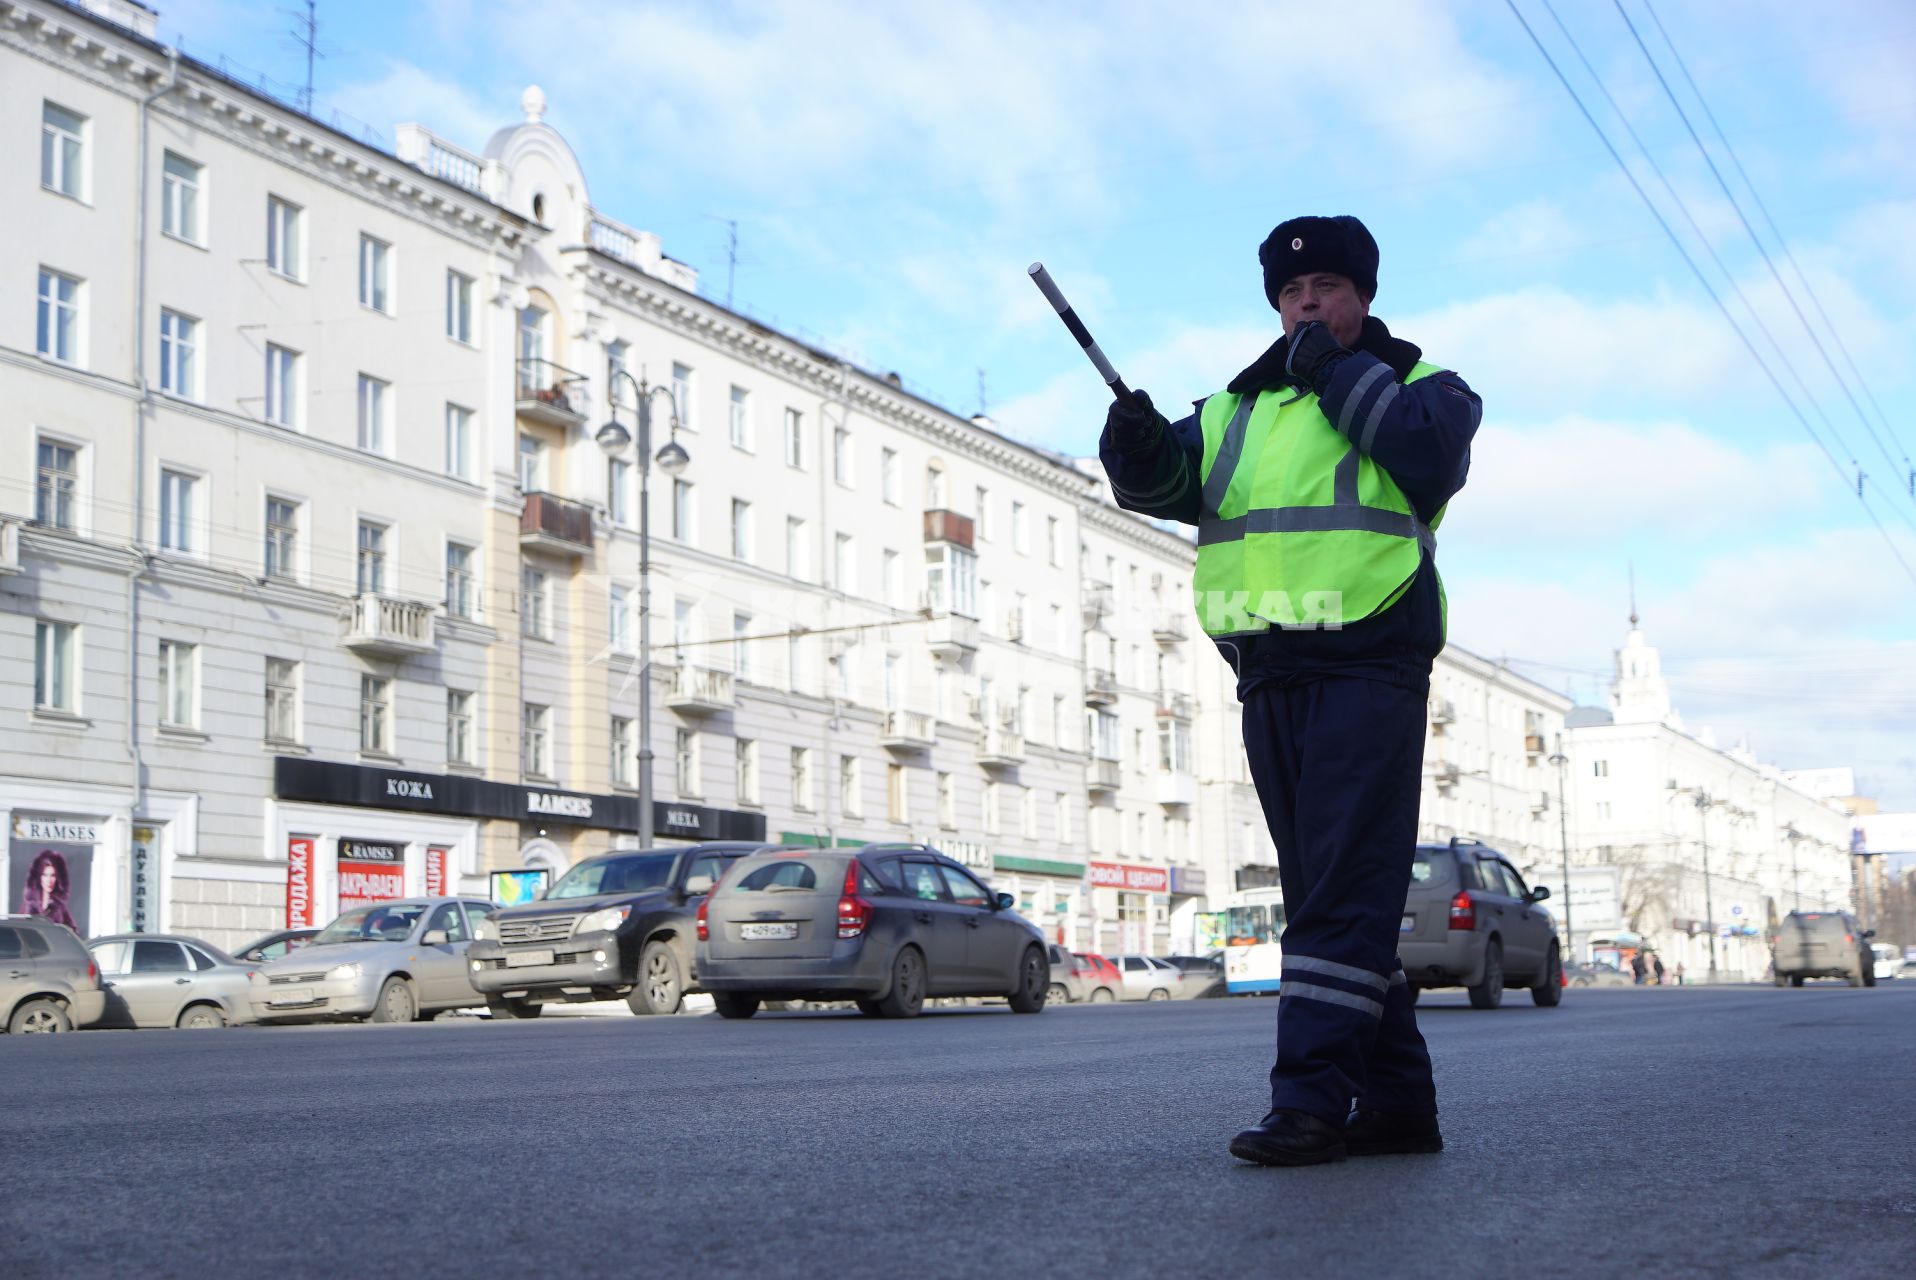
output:
M 414 1021 L 485 1004 L 466 971 L 490 903 L 399 899 L 343 912 L 310 943 L 253 973 L 261 1021 Z

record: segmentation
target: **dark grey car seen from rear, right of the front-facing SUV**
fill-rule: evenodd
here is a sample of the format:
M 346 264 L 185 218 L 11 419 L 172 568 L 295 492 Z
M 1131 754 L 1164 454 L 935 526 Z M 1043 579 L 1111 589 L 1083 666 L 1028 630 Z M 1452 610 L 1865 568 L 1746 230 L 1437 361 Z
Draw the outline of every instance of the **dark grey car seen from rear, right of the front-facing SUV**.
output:
M 914 1017 L 927 996 L 1004 996 L 1037 1014 L 1044 935 L 929 845 L 780 849 L 740 858 L 697 914 L 699 983 L 724 1017 L 764 1000 L 853 1000 Z

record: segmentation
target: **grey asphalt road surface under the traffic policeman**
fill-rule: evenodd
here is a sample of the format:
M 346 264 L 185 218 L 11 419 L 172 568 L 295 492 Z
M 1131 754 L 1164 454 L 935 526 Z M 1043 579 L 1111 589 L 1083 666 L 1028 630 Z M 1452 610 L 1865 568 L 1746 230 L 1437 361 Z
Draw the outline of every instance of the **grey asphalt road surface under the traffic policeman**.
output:
M 1916 983 L 1427 994 L 1445 1154 L 1316 1169 L 1274 1017 L 0 1037 L 0 1272 L 1908 1274 Z

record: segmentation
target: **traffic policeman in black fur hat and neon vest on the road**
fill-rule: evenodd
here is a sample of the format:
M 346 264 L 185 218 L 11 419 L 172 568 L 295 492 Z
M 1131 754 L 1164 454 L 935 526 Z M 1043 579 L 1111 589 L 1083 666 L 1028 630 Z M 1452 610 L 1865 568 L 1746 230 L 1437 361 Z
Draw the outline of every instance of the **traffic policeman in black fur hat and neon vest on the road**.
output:
M 1439 1152 L 1397 937 L 1445 642 L 1433 529 L 1481 402 L 1370 314 L 1378 241 L 1357 218 L 1282 222 L 1257 259 L 1284 335 L 1176 423 L 1144 393 L 1115 402 L 1100 441 L 1119 506 L 1198 525 L 1198 617 L 1238 676 L 1278 847 L 1270 1109 L 1230 1152 Z

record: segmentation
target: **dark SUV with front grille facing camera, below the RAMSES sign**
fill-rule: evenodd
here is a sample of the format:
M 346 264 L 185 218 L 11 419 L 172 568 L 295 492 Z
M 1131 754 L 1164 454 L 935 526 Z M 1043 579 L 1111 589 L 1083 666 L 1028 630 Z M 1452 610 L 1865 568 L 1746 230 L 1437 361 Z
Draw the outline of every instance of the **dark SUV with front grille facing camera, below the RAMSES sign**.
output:
M 586 858 L 544 897 L 494 912 L 466 950 L 494 1017 L 546 1004 L 617 1000 L 676 1014 L 697 991 L 694 918 L 732 862 L 778 845 L 728 841 Z

